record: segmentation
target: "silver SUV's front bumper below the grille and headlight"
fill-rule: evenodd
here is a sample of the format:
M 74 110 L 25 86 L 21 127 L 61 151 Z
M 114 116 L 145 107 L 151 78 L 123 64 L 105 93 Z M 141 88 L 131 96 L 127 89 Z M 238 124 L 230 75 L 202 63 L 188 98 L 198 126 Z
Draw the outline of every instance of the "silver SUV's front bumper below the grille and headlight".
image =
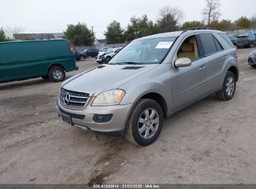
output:
M 104 134 L 108 136 L 123 136 L 126 126 L 126 120 L 130 113 L 132 104 L 115 105 L 115 106 L 90 106 L 85 109 L 67 109 L 57 97 L 57 113 L 60 118 L 62 115 L 70 116 L 72 123 L 85 130 L 95 132 L 95 134 Z M 113 114 L 109 122 L 95 122 L 93 116 L 96 114 L 106 115 Z M 81 119 L 81 117 L 85 116 Z

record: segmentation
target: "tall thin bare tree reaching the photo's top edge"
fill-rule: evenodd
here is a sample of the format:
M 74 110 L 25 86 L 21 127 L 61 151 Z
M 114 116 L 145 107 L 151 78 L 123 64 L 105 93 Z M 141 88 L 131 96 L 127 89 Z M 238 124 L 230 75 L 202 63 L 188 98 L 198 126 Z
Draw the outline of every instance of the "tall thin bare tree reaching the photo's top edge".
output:
M 206 7 L 202 11 L 202 15 L 209 25 L 211 21 L 216 21 L 221 16 L 219 0 L 206 0 Z

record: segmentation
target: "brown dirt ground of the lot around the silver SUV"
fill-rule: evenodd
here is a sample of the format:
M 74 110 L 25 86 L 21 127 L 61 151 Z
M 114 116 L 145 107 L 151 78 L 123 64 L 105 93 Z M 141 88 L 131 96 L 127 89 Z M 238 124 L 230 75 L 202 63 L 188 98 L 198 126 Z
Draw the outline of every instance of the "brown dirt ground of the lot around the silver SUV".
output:
M 60 83 L 0 84 L 0 183 L 256 183 L 253 49 L 238 50 L 232 100 L 207 98 L 174 114 L 148 147 L 66 126 L 55 113 Z M 68 78 L 98 66 L 77 65 Z

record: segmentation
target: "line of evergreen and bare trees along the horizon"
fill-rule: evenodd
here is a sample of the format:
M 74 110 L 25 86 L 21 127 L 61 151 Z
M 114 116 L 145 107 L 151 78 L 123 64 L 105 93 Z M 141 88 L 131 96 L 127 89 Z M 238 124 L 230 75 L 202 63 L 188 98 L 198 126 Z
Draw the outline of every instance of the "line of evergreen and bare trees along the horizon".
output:
M 202 21 L 183 22 L 184 12 L 178 7 L 163 7 L 158 12 L 158 19 L 153 22 L 146 14 L 143 16 L 132 16 L 126 28 L 121 27 L 120 22 L 112 21 L 107 25 L 104 32 L 107 44 L 119 44 L 130 42 L 131 40 L 161 32 L 173 32 L 184 30 L 190 27 L 213 27 L 222 31 L 236 29 L 256 29 L 256 14 L 251 18 L 241 16 L 232 22 L 229 19 L 219 21 L 220 2 L 219 0 L 205 0 L 206 6 L 202 10 Z M 93 30 L 89 29 L 87 24 L 68 24 L 64 31 L 65 39 L 68 39 L 73 45 L 92 45 L 95 41 Z M 9 40 L 3 29 L 0 29 L 0 41 Z

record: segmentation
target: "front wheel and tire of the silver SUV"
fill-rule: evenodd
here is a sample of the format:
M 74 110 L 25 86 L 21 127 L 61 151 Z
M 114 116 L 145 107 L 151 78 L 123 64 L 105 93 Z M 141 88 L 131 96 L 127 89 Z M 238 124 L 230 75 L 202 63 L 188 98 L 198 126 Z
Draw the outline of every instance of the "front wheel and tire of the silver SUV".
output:
M 147 110 L 148 114 L 146 114 Z M 156 112 L 154 116 L 152 114 L 153 111 Z M 147 120 L 146 118 L 149 119 Z M 141 122 L 140 120 L 142 120 L 145 123 Z M 158 122 L 152 123 L 151 121 Z M 156 141 L 161 132 L 162 127 L 163 111 L 161 109 L 161 106 L 152 99 L 140 99 L 140 101 L 138 101 L 138 103 L 131 111 L 131 114 L 127 121 L 125 127 L 125 138 L 132 144 L 146 146 Z M 154 132 L 153 128 L 155 130 Z M 139 132 L 139 129 L 142 129 L 141 134 Z

